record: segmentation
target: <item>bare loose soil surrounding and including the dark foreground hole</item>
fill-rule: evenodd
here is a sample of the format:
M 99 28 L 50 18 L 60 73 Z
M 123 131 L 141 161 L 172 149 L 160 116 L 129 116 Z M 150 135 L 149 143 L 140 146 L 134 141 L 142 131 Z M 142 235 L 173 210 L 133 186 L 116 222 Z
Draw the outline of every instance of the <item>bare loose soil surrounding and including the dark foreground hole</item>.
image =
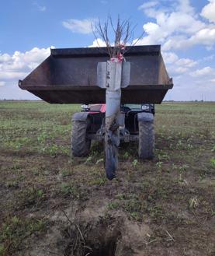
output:
M 30 255 L 140 255 L 138 251 L 146 245 L 144 238 L 149 236 L 149 226 L 128 219 L 120 211 L 107 214 L 105 209 L 86 207 L 80 212 L 72 207 L 55 212 L 50 217 L 54 225 Z

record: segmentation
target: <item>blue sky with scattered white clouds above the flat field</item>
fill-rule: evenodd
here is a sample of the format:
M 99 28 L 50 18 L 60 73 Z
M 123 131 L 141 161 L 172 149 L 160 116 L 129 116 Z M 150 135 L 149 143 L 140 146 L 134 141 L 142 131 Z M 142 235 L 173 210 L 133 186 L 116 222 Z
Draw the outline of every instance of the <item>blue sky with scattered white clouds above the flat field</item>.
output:
M 143 33 L 137 44 L 161 44 L 174 82 L 165 100 L 215 101 L 215 0 L 2 0 L 0 99 L 38 99 L 19 89 L 18 80 L 50 47 L 98 46 L 91 24 L 108 16 L 129 19 L 134 42 Z

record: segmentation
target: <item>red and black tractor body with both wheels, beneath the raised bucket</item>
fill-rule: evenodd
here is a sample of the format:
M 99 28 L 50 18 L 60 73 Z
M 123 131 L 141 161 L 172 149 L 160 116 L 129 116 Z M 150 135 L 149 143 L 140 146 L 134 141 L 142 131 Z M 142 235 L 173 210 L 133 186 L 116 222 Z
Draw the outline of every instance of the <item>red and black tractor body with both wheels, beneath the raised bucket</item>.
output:
M 106 104 L 82 105 L 72 117 L 71 152 L 87 156 L 91 141 L 105 137 Z M 139 142 L 141 160 L 154 157 L 154 104 L 122 104 L 120 109 L 120 141 Z

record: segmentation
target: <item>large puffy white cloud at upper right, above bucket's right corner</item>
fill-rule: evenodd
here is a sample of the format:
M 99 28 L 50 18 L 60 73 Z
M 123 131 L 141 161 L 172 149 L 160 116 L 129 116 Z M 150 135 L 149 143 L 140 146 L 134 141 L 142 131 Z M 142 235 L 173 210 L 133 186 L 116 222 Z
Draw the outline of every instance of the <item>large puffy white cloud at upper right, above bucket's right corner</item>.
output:
M 215 0 L 210 0 L 210 4 L 213 3 Z M 146 35 L 137 44 L 162 44 L 164 51 L 184 49 L 194 45 L 204 45 L 207 49 L 213 47 L 215 25 L 203 23 L 189 0 L 178 0 L 177 4 L 169 2 L 168 6 L 168 9 L 164 9 L 157 1 L 140 5 L 138 9 L 143 10 L 146 16 L 154 18 L 155 22 L 144 24 Z M 213 17 L 215 19 L 215 15 Z

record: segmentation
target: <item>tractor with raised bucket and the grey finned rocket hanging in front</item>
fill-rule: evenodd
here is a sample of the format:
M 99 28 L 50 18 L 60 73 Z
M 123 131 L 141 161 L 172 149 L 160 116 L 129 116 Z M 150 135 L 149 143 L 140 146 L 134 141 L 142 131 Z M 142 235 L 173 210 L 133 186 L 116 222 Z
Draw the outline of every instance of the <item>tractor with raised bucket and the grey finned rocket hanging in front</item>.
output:
M 110 56 L 110 51 L 119 52 Z M 120 141 L 138 141 L 140 160 L 154 157 L 154 104 L 162 102 L 173 82 L 160 45 L 124 51 L 116 44 L 51 49 L 19 87 L 48 103 L 88 103 L 72 117 L 71 152 L 87 156 L 92 140 L 103 141 L 106 177 L 112 180 Z

